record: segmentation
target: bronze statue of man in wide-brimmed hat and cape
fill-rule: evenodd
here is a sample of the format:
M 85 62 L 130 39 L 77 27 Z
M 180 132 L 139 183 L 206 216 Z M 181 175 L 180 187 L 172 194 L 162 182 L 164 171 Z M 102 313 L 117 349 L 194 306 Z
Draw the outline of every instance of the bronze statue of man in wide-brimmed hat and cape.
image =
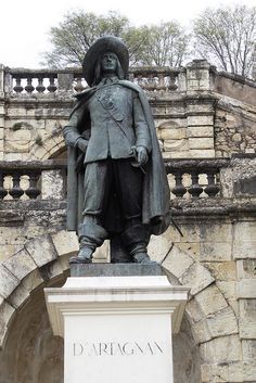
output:
M 129 55 L 114 36 L 98 39 L 84 60 L 90 86 L 64 128 L 68 146 L 69 230 L 80 250 L 71 263 L 91 263 L 118 234 L 135 263 L 151 263 L 150 235 L 169 225 L 169 189 L 149 102 L 127 80 Z

